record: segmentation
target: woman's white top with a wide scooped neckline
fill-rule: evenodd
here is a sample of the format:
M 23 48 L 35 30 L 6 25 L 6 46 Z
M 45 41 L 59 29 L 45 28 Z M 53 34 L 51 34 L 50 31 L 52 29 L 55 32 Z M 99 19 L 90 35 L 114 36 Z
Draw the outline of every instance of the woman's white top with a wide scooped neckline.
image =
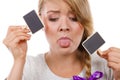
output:
M 91 55 L 91 73 L 95 71 L 103 72 L 103 77 L 99 80 L 113 80 L 113 71 L 107 67 L 107 62 L 97 54 Z M 85 77 L 85 70 L 79 73 L 80 77 Z M 73 80 L 73 78 L 64 78 L 54 74 L 45 61 L 45 54 L 39 54 L 36 57 L 28 56 L 22 80 Z

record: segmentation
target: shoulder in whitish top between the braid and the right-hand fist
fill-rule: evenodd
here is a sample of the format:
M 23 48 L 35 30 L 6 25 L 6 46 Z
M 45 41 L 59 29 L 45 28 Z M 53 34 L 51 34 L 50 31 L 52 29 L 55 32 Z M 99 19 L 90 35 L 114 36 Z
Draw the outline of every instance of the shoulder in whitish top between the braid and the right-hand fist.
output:
M 104 77 L 111 80 L 113 78 L 113 71 L 107 66 L 107 61 L 101 58 L 97 53 L 91 55 L 91 68 L 92 73 L 95 71 L 101 71 L 104 73 Z

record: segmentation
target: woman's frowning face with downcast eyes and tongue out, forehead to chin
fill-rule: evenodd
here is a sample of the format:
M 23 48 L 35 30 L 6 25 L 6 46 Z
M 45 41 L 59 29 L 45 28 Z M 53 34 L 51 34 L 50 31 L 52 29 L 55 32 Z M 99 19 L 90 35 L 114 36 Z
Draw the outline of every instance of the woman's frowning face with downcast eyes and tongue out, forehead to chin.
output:
M 66 54 L 77 50 L 84 28 L 64 0 L 46 1 L 41 18 L 45 24 L 50 51 Z

